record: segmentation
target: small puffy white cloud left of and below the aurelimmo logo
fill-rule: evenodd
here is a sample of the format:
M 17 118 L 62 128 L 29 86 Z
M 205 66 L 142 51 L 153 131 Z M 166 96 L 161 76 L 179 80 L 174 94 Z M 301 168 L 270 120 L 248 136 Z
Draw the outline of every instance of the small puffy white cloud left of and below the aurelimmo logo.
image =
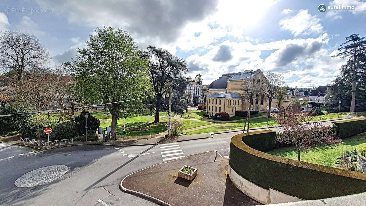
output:
M 300 10 L 291 18 L 281 19 L 279 24 L 281 29 L 289 30 L 294 36 L 324 32 L 320 19 L 317 16 L 309 14 L 307 10 Z

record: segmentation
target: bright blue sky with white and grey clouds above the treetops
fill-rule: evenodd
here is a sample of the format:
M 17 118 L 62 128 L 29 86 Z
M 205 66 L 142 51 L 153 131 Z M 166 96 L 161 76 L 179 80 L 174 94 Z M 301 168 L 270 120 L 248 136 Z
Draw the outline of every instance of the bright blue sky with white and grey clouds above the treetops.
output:
M 328 9 L 321 13 L 320 4 Z M 332 9 L 328 6 L 354 6 Z M 187 61 L 210 84 L 248 69 L 283 74 L 290 87 L 331 83 L 345 60 L 332 57 L 351 34 L 366 36 L 365 0 L 2 0 L 0 30 L 37 36 L 50 66 L 84 48 L 97 27 L 126 30 L 139 49 L 155 45 Z

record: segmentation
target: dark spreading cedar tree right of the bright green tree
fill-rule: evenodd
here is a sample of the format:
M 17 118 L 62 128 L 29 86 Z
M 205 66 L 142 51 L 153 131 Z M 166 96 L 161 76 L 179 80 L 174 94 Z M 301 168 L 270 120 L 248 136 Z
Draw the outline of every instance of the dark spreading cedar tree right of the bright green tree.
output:
M 168 50 L 156 48 L 149 45 L 146 48 L 145 57 L 149 59 L 150 81 L 153 87 L 154 95 L 152 98 L 153 108 L 155 113 L 154 123 L 159 122 L 159 112 L 165 110 L 163 96 L 169 96 L 169 89 L 164 89 L 172 86 L 173 91 L 183 94 L 186 90 L 191 78 L 183 77 L 183 74 L 188 73 L 187 62 L 176 56 L 173 56 Z M 164 91 L 164 92 L 162 92 Z M 172 111 L 174 106 L 172 105 Z

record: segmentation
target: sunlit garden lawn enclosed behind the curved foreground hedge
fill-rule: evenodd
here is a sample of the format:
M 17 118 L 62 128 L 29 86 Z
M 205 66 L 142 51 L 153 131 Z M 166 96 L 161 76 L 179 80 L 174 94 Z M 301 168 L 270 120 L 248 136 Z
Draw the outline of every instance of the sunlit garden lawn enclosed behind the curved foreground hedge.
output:
M 360 147 L 366 146 L 366 134 L 363 133 L 353 137 L 348 137 L 346 139 L 343 139 L 342 142 L 337 145 L 318 145 L 313 146 L 312 150 L 301 150 L 300 160 L 318 165 L 338 168 L 338 166 L 334 162 L 338 156 L 342 155 L 342 147 L 344 147 L 344 145 L 346 145 L 346 150 L 351 151 L 352 146 L 356 146 L 356 149 L 359 150 Z M 268 151 L 267 153 L 297 160 L 296 148 Z

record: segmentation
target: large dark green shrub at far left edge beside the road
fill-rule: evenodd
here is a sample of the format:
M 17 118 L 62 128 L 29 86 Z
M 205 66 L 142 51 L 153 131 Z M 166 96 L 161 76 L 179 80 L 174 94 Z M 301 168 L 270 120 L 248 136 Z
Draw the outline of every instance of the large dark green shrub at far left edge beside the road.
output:
M 14 104 L 5 104 L 0 107 L 0 115 L 24 113 L 25 109 L 16 107 Z M 10 132 L 12 130 L 20 130 L 23 125 L 29 121 L 31 115 L 15 115 L 8 117 L 0 117 L 0 132 Z

